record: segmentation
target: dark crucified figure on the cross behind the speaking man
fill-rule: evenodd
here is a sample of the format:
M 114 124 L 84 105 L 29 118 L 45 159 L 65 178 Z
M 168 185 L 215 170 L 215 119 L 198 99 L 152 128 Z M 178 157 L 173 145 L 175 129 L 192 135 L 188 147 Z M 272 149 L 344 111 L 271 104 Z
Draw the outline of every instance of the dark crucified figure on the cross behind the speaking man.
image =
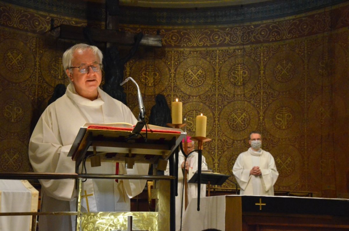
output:
M 143 38 L 142 32 L 135 36 L 135 43 L 128 55 L 124 58 L 120 57 L 120 53 L 116 46 L 110 46 L 105 50 L 103 59 L 103 68 L 105 73 L 103 91 L 114 99 L 127 104 L 124 88 L 120 83 L 124 80 L 124 69 L 126 62 L 136 53 L 139 43 Z

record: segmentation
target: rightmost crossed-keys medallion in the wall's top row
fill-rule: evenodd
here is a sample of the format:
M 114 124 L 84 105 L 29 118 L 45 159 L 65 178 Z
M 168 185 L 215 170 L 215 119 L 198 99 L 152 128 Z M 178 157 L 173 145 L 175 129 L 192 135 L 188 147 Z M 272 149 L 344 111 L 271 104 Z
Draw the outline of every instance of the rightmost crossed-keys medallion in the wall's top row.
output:
M 265 69 L 268 84 L 277 91 L 288 91 L 296 87 L 303 75 L 302 59 L 293 51 L 276 53 Z

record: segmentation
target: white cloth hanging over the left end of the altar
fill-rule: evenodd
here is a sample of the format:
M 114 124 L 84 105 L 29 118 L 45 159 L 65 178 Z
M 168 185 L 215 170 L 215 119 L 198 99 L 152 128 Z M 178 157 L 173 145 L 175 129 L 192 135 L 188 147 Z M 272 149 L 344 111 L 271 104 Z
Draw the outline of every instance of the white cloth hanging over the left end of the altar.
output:
M 226 196 L 200 198 L 200 211 L 197 210 L 198 199 L 192 199 L 182 218 L 182 231 L 225 230 Z

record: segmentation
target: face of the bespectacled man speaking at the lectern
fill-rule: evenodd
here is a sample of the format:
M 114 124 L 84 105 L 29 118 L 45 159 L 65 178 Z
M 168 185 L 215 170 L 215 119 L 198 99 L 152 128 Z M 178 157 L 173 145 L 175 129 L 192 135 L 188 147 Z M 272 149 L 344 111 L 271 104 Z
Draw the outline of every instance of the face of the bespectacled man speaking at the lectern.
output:
M 73 54 L 72 67 L 67 69 L 67 75 L 75 87 L 75 91 L 82 97 L 94 100 L 98 96 L 97 87 L 102 81 L 102 70 L 94 71 L 90 65 L 100 64 L 98 55 L 94 54 L 92 50 L 86 49 L 84 51 L 77 50 Z M 82 65 L 89 66 L 87 73 L 81 73 L 79 67 Z

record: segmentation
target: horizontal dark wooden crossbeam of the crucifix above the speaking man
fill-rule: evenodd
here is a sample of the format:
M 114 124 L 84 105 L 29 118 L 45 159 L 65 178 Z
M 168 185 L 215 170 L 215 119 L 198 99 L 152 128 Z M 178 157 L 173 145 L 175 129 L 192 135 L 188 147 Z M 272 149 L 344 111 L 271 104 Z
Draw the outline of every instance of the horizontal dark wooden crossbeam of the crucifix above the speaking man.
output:
M 60 25 L 59 38 L 72 40 L 86 40 L 83 34 L 83 27 L 72 25 Z M 118 43 L 122 45 L 133 45 L 135 33 L 121 32 L 116 30 L 103 30 L 99 28 L 89 28 L 92 40 L 95 42 Z M 146 46 L 162 46 L 160 35 L 144 35 L 141 45 Z

